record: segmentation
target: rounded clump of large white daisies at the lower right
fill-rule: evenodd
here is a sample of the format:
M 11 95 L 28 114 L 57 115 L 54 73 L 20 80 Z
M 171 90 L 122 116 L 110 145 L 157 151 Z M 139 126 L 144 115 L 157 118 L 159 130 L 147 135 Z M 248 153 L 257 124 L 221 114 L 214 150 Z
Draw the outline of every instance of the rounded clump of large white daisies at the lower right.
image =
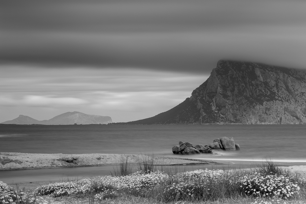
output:
M 300 187 L 293 184 L 289 177 L 267 175 L 260 173 L 244 175 L 239 179 L 240 187 L 244 189 L 247 195 L 262 195 L 263 197 L 290 197 L 299 194 Z

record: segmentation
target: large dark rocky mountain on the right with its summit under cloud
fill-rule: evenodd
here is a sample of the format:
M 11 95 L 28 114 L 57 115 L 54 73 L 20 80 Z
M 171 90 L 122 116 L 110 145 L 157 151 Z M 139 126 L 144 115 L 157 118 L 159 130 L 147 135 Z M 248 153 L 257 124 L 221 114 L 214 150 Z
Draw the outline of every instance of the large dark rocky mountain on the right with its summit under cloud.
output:
M 220 60 L 184 102 L 120 124 L 306 124 L 306 70 Z

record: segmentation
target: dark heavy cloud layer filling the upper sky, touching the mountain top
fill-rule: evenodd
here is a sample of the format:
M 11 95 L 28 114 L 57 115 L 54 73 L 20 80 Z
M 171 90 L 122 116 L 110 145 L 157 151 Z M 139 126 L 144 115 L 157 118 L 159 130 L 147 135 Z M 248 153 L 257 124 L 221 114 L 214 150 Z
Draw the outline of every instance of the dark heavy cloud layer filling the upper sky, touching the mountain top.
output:
M 209 74 L 220 59 L 305 68 L 305 1 L 1 2 L 0 61 Z

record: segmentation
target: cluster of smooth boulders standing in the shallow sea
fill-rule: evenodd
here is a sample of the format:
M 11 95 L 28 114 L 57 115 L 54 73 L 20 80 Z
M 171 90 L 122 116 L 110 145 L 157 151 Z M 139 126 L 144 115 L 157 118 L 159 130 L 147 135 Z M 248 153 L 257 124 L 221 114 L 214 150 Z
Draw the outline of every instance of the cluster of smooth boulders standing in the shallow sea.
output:
M 213 151 L 214 150 L 214 151 Z M 216 151 L 237 151 L 240 150 L 239 144 L 235 144 L 233 137 L 221 137 L 217 138 L 211 144 L 202 145 L 198 144 L 193 146 L 191 143 L 182 141 L 179 145 L 172 147 L 173 154 L 190 155 L 190 154 L 214 154 L 221 155 Z

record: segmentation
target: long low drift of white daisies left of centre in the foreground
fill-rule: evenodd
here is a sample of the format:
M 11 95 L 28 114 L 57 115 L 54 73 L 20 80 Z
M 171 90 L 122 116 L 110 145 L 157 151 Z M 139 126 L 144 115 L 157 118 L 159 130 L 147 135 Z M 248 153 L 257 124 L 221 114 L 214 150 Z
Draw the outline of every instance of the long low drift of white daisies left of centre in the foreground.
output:
M 51 195 L 54 197 L 86 193 L 89 191 L 98 192 L 95 197 L 103 199 L 118 195 L 119 189 L 133 189 L 139 193 L 147 191 L 166 178 L 163 172 L 142 172 L 138 171 L 129 176 L 120 177 L 95 177 L 93 179 L 82 179 L 73 182 L 61 182 L 43 185 L 35 189 L 37 195 Z

